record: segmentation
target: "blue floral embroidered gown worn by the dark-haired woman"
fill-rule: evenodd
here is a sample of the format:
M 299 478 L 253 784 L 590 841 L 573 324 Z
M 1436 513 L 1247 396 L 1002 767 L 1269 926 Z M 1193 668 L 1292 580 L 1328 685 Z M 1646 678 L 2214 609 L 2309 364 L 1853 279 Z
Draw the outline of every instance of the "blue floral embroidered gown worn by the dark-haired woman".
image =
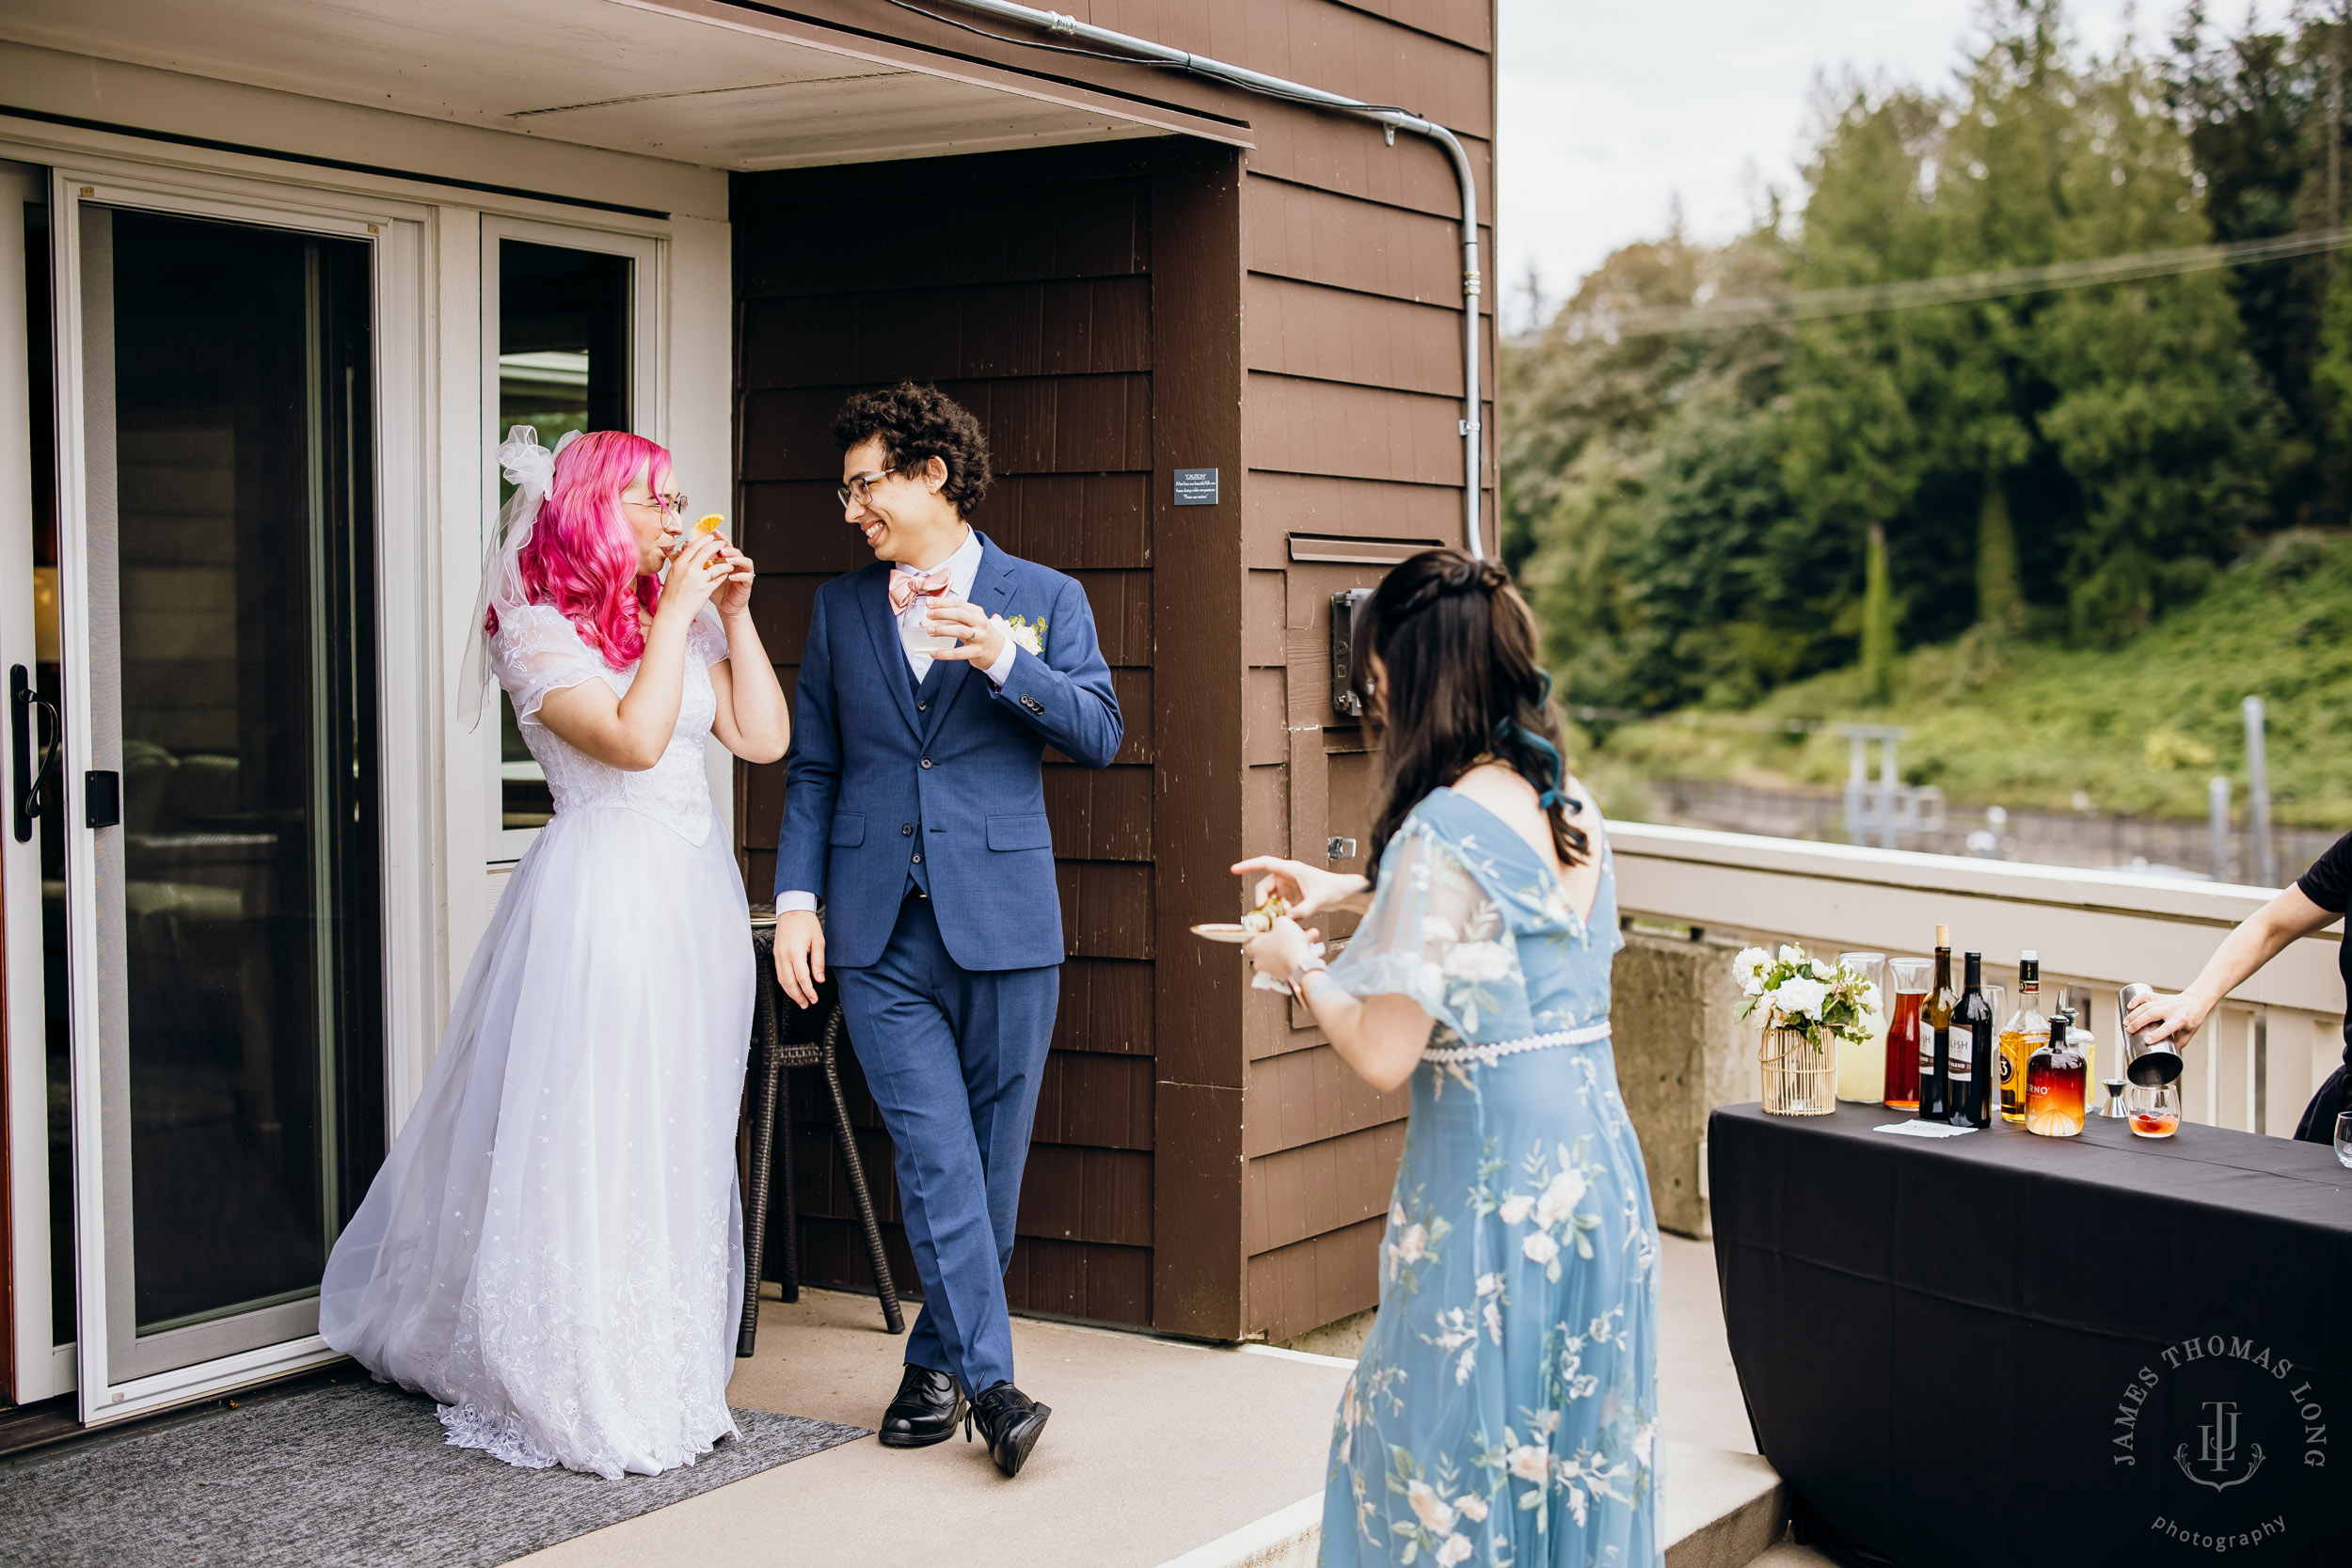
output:
M 1501 818 L 1435 790 L 1331 964 L 1437 1027 L 1341 1396 L 1322 1561 L 1658 1568 L 1658 1222 L 1609 1051 L 1606 849 L 1581 917 Z

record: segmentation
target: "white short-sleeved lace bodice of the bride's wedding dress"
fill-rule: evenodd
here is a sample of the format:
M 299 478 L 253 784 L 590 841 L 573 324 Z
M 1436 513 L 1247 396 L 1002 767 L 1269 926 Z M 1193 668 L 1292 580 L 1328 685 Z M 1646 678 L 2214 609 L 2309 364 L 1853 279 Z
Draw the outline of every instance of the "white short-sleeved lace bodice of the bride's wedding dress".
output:
M 555 813 L 590 806 L 628 806 L 677 830 L 689 844 L 710 837 L 710 780 L 703 773 L 703 738 L 717 715 L 710 665 L 727 658 L 727 632 L 717 611 L 703 607 L 687 628 L 687 684 L 677 703 L 677 729 L 661 762 L 644 771 L 616 769 L 562 741 L 539 722 L 539 705 L 550 691 L 564 691 L 602 677 L 614 696 L 626 696 L 637 668 L 614 670 L 604 656 L 581 639 L 553 604 L 524 604 L 499 614 L 499 635 L 489 639 L 492 670 L 515 703 L 522 743 L 548 776 Z

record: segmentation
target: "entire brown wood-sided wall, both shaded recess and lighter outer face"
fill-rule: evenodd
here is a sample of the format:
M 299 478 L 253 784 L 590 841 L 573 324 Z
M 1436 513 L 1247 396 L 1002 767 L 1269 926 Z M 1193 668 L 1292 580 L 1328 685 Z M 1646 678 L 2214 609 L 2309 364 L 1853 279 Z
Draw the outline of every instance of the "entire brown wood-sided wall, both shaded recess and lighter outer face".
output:
M 804 9 L 856 21 L 847 0 Z M 1491 0 L 1077 14 L 1442 120 L 1494 212 Z M 1047 68 L 896 21 L 915 42 Z M 1279 1340 L 1374 1305 L 1406 1098 L 1371 1093 L 1303 1013 L 1185 926 L 1232 917 L 1225 867 L 1242 853 L 1322 863 L 1329 837 L 1367 837 L 1374 757 L 1329 705 L 1329 597 L 1381 569 L 1294 562 L 1289 541 L 1461 543 L 1461 195 L 1414 136 L 1388 146 L 1357 120 L 1141 68 L 1051 71 L 1247 122 L 1256 146 L 739 176 L 739 515 L 790 689 L 816 585 L 866 559 L 830 494 L 833 409 L 908 376 L 985 421 L 1002 477 L 976 522 L 1087 585 L 1127 715 L 1112 769 L 1049 762 L 1070 961 L 1009 1293 L 1033 1312 Z M 851 237 L 877 212 L 880 235 Z M 1491 259 L 1491 230 L 1482 242 Z M 1484 339 L 1491 400 L 1491 317 Z M 1491 404 L 1486 423 L 1491 454 Z M 1174 468 L 1218 468 L 1221 505 L 1171 508 Z M 764 898 L 781 766 L 746 769 L 739 802 Z M 809 1088 L 795 1086 L 804 1276 L 866 1284 Z M 896 1220 L 863 1088 L 854 1114 Z M 896 1225 L 889 1244 L 910 1288 Z

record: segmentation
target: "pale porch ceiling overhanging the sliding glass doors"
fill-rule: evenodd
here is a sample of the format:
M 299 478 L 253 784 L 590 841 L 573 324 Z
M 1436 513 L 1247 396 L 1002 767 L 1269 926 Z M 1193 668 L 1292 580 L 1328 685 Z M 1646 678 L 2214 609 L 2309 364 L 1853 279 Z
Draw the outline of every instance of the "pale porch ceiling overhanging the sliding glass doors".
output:
M 720 169 L 1240 127 L 724 0 L 7 0 L 0 38 Z

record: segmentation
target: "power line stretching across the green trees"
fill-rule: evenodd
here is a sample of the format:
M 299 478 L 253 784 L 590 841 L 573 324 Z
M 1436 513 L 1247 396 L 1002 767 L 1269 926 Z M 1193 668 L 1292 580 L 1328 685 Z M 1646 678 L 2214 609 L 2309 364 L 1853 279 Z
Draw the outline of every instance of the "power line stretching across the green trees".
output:
M 2103 282 L 2213 273 L 2220 268 L 2258 266 L 2263 261 L 2286 261 L 2291 256 L 2317 256 L 2345 249 L 2347 244 L 2352 244 L 2352 228 L 2307 228 L 2263 240 L 2232 240 L 2230 244 L 2185 244 L 2161 252 L 2096 256 L 2091 261 L 2049 261 L 2044 266 L 1872 282 L 1849 289 L 1804 289 L 1778 299 L 1726 299 L 1705 306 L 1635 306 L 1632 310 L 1585 310 L 1578 315 L 1590 334 L 1613 343 L 1618 339 L 1733 331 L 1738 327 L 1766 327 L 1773 322 L 1820 322 L 1842 315 L 1877 315 L 1882 310 L 1912 310 L 1919 306 L 1966 306 L 1985 299 L 2013 299 L 2018 294 L 2086 289 Z

